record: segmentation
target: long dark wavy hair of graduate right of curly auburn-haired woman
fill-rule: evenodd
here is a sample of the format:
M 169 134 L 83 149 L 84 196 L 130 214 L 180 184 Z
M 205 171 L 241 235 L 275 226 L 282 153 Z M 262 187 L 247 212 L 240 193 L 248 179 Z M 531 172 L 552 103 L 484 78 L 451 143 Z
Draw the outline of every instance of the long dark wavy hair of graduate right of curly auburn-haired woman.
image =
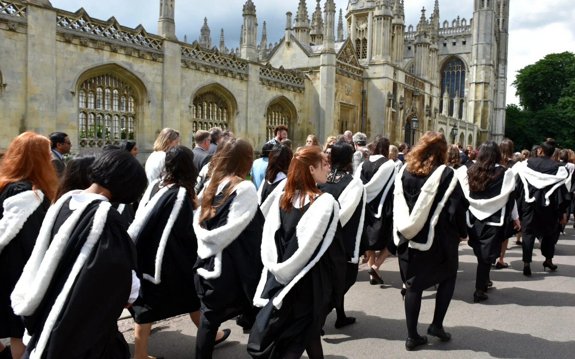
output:
M 501 162 L 501 151 L 494 141 L 485 141 L 479 148 L 475 164 L 467 169 L 470 191 L 484 191 L 497 173 L 495 165 Z

